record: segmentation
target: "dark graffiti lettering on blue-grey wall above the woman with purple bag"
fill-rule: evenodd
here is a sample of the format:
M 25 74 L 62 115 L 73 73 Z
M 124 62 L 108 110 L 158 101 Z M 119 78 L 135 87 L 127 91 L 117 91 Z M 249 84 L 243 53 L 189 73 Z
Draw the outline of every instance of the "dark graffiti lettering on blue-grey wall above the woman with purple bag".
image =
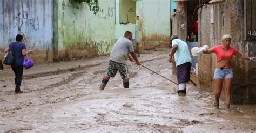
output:
M 19 32 L 30 33 L 39 30 L 39 17 L 29 17 L 28 11 L 23 10 L 14 14 L 13 19 L 13 28 L 17 28 Z

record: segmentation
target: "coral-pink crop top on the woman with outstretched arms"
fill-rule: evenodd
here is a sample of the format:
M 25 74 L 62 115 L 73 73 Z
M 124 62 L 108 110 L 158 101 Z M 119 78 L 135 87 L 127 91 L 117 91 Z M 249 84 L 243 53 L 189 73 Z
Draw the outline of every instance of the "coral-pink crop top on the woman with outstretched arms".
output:
M 235 49 L 234 47 L 230 46 L 226 51 L 223 50 L 223 48 L 221 47 L 221 45 L 217 45 L 212 47 L 212 50 L 214 51 L 214 53 L 216 53 L 217 56 L 217 61 L 219 62 L 221 60 L 227 60 L 229 62 L 232 61 L 232 57 L 235 53 L 237 53 L 237 49 Z

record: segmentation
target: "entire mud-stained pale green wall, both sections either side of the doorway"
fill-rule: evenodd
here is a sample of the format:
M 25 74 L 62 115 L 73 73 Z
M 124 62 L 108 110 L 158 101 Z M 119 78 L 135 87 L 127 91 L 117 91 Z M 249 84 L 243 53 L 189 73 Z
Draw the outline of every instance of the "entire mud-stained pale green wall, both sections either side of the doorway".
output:
M 86 3 L 72 8 L 69 0 L 55 1 L 55 58 L 70 60 L 110 54 L 116 39 L 123 36 L 125 31 L 135 33 L 135 24 L 119 24 L 120 13 L 124 14 L 123 11 L 126 11 L 123 8 L 127 8 L 127 13 L 132 7 L 133 13 L 139 16 L 140 51 L 170 41 L 170 1 L 127 1 L 99 0 L 103 12 L 96 15 Z M 134 16 L 132 19 L 134 20 Z

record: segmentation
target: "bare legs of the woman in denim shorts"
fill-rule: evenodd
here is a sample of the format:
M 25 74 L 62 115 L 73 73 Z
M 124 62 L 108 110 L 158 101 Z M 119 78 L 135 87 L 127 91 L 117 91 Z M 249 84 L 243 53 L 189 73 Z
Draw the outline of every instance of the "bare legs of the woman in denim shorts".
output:
M 223 81 L 225 82 L 225 108 L 230 109 L 230 94 L 231 94 L 231 83 L 232 78 L 226 79 L 215 79 L 216 92 L 215 92 L 215 104 L 216 108 L 219 108 L 219 98 L 222 92 Z

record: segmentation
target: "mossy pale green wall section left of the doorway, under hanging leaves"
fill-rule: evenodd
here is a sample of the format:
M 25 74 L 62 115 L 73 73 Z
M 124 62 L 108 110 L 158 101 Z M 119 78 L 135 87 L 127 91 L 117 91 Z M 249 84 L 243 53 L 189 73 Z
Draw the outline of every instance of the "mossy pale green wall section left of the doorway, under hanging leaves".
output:
M 58 0 L 58 41 L 55 43 L 59 60 L 109 54 L 115 42 L 115 2 L 99 0 L 103 12 L 93 14 L 86 3 L 73 8 L 69 0 Z M 56 11 L 55 11 L 56 12 Z

